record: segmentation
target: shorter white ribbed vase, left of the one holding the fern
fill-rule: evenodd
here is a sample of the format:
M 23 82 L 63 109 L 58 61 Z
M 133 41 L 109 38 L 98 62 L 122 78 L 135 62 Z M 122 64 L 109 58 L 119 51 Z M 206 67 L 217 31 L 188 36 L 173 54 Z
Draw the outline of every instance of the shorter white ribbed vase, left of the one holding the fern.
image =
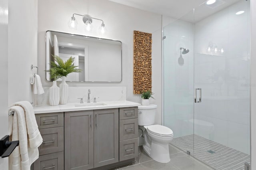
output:
M 49 103 L 51 106 L 59 105 L 60 103 L 60 87 L 56 81 L 52 81 L 52 87 L 49 89 Z

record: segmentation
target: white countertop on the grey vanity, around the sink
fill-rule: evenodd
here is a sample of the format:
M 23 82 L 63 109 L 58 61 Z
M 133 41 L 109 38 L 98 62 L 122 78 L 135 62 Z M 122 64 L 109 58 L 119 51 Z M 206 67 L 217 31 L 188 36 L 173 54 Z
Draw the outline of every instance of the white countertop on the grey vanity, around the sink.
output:
M 104 103 L 106 105 L 92 105 L 92 106 L 75 106 L 79 103 L 67 103 L 66 105 L 58 106 L 34 106 L 35 114 L 38 113 L 56 113 L 56 112 L 70 112 L 70 111 L 87 111 L 97 109 L 112 109 L 120 107 L 136 107 L 140 106 L 140 103 L 134 103 L 131 101 L 100 101 L 98 103 Z

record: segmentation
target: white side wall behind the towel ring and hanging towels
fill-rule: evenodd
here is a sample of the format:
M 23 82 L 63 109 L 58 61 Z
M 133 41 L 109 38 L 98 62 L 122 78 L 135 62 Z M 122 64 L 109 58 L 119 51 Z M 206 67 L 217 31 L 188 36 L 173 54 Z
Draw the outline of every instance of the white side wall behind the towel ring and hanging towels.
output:
M 30 65 L 37 65 L 37 0 L 9 0 L 8 104 L 33 102 Z M 36 71 L 36 68 L 35 68 Z

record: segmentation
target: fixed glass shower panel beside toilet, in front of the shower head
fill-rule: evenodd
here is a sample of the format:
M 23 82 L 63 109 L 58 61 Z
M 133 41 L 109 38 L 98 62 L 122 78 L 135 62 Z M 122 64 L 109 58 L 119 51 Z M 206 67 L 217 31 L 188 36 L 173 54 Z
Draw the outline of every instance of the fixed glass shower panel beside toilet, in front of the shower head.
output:
M 164 27 L 164 126 L 185 152 L 194 147 L 194 10 Z M 183 138 L 185 136 L 185 138 Z M 189 136 L 189 138 L 187 138 Z M 192 153 L 191 153 L 192 154 Z

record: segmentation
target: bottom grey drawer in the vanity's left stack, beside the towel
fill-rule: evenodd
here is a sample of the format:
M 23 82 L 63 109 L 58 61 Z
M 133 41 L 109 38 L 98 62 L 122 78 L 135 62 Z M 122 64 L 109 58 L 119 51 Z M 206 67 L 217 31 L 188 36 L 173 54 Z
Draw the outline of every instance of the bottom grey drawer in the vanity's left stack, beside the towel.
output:
M 34 170 L 64 170 L 64 152 L 39 156 L 33 168 Z

